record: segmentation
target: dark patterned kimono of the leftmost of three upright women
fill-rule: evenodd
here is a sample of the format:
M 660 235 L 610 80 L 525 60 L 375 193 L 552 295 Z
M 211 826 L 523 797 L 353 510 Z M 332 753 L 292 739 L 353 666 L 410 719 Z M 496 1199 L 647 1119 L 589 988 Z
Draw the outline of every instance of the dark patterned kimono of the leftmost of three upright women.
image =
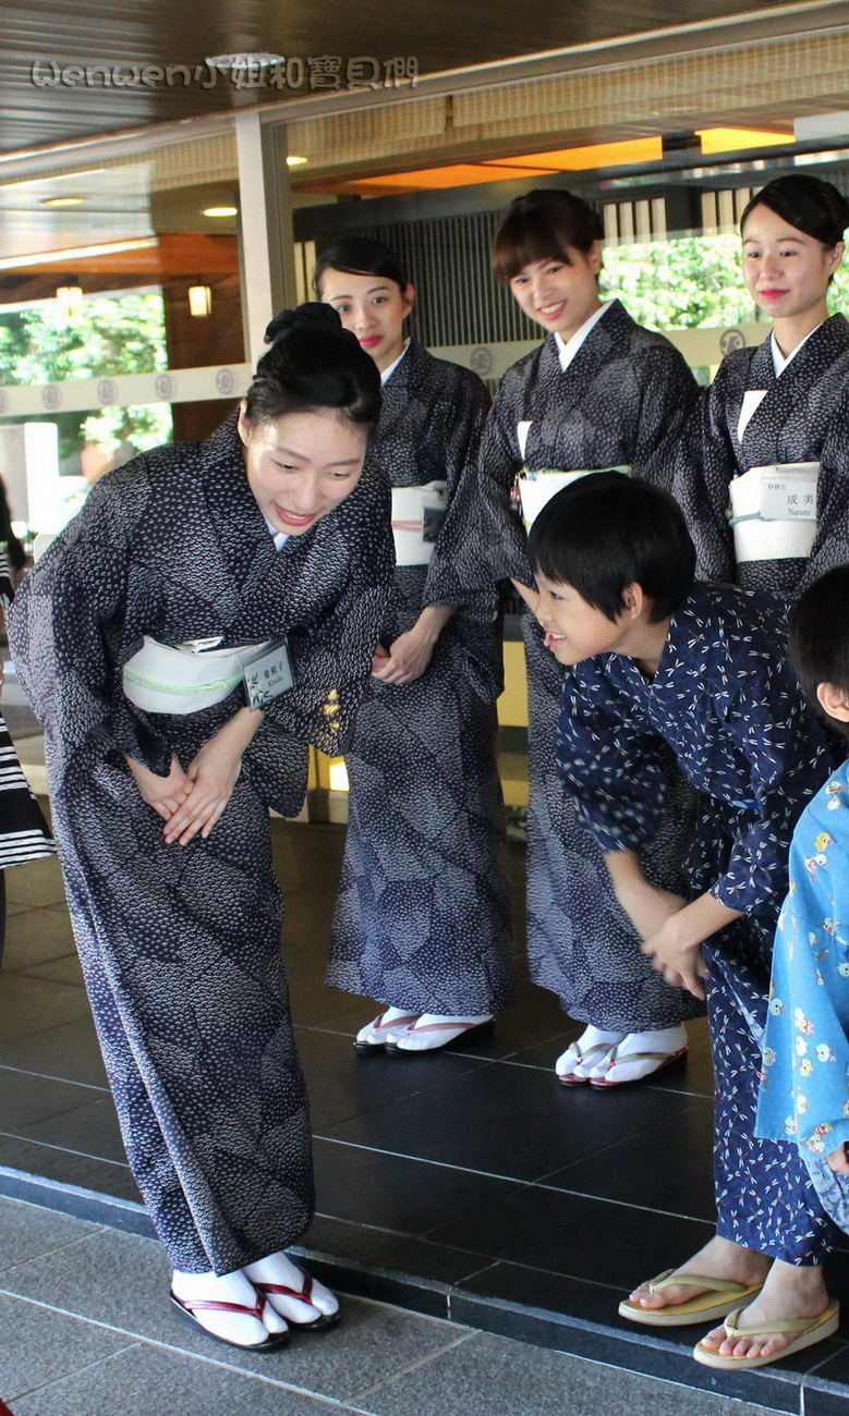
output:
M 452 500 L 486 406 L 475 374 L 411 341 L 384 385 L 373 457 L 394 487 L 445 480 Z M 429 566 L 397 566 L 387 647 L 437 603 L 442 539 Z M 515 1003 L 496 763 L 500 620 L 492 581 L 458 599 L 421 678 L 373 678 L 360 705 L 327 983 L 411 1012 L 480 1015 Z

